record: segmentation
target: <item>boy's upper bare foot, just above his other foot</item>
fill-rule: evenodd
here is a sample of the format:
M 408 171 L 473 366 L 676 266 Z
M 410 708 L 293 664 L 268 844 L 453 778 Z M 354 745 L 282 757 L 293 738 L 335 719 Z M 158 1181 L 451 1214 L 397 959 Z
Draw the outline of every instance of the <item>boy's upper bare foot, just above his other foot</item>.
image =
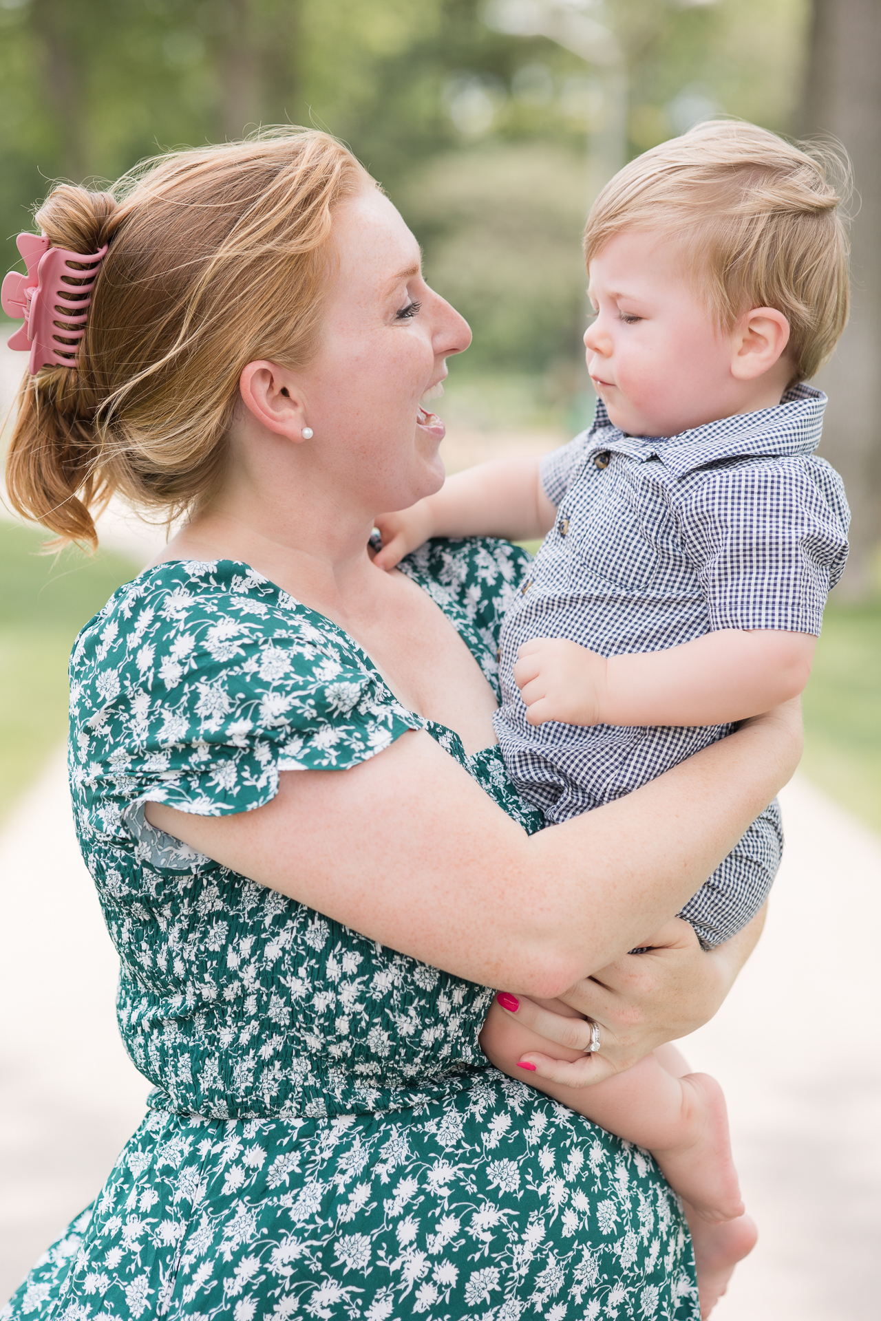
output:
M 651 1155 L 696 1215 L 713 1225 L 737 1219 L 744 1214 L 744 1202 L 732 1160 L 722 1089 L 709 1074 L 686 1074 L 679 1082 L 688 1141 L 662 1149 L 652 1147 Z

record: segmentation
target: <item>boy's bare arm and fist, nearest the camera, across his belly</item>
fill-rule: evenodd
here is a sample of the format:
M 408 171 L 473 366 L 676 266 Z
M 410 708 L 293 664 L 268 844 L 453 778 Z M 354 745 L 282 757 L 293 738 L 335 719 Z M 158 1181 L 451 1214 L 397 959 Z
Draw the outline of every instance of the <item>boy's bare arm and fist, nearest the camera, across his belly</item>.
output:
M 606 660 L 567 638 L 532 638 L 514 678 L 532 725 L 717 725 L 798 696 L 815 646 L 810 633 L 722 629 Z

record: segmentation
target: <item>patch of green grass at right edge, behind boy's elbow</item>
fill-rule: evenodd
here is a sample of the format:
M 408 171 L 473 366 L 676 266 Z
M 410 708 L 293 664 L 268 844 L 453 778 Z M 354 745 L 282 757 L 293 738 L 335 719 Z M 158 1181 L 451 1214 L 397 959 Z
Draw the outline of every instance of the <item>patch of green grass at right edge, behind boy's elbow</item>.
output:
M 881 831 L 881 602 L 827 609 L 803 705 L 803 770 Z

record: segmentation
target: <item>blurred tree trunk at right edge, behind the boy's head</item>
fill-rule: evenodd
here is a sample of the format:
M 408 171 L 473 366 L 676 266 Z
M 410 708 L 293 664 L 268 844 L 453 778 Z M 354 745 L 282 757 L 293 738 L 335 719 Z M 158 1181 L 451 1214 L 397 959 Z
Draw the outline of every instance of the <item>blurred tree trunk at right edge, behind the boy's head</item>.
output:
M 818 378 L 829 396 L 820 453 L 844 477 L 853 511 L 841 592 L 872 590 L 881 538 L 881 5 L 814 0 L 804 135 L 832 135 L 853 162 L 851 324 Z

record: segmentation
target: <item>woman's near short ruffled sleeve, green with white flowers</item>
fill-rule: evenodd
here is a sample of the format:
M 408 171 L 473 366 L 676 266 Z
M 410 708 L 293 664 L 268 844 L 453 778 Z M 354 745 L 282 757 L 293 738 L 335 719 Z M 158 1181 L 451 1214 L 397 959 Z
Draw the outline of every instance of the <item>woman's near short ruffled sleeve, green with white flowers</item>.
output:
M 74 650 L 71 782 L 111 834 L 147 801 L 260 807 L 280 771 L 345 770 L 419 728 L 329 620 L 240 565 L 238 581 L 206 568 L 135 580 Z

